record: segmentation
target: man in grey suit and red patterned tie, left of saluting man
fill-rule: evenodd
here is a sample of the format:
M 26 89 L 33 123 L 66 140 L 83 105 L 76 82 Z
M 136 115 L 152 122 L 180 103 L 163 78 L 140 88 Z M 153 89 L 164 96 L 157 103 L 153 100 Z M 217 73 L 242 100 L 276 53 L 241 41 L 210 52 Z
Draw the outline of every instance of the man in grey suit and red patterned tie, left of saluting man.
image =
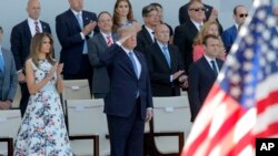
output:
M 107 11 L 100 12 L 98 15 L 100 33 L 88 41 L 88 55 L 93 69 L 91 87 L 95 98 L 103 98 L 110 86 L 106 65 L 99 61 L 99 56 L 115 42 L 111 33 L 112 25 L 111 14 Z

